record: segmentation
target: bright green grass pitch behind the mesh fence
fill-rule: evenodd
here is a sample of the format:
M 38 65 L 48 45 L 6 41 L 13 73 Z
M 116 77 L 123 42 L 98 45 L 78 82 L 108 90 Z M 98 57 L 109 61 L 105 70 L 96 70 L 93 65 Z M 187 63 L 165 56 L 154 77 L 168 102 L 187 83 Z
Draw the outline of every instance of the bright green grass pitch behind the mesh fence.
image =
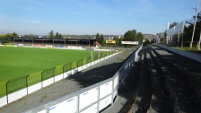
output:
M 0 82 L 90 57 L 90 51 L 0 47 Z M 61 69 L 60 69 L 61 70 Z

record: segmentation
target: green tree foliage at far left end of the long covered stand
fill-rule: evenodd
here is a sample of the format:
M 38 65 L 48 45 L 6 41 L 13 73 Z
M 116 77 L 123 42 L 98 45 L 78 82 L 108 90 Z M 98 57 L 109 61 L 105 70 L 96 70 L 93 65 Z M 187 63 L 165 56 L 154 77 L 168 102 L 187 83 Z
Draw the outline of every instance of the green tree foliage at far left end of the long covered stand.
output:
M 10 43 L 12 41 L 12 37 L 15 37 L 15 36 L 17 36 L 15 32 L 0 35 L 0 43 L 2 44 Z

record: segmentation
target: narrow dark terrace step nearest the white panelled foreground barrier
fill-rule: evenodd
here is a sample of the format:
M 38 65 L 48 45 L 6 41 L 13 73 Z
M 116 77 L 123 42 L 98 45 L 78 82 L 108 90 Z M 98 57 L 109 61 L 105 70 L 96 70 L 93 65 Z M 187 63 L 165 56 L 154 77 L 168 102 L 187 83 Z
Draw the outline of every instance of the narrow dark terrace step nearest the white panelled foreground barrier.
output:
M 151 81 L 149 76 L 148 63 L 145 53 L 141 53 L 141 70 L 139 75 L 139 82 L 136 92 L 136 99 L 135 103 L 131 108 L 131 112 L 146 112 L 149 109 L 151 95 L 152 95 L 152 88 L 151 88 Z

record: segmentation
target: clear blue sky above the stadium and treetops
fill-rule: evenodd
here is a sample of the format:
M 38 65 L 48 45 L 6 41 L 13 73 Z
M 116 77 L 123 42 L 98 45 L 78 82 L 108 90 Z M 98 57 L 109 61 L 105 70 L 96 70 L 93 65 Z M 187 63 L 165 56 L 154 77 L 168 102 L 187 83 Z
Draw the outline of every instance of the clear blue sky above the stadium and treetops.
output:
M 156 34 L 195 15 L 197 0 L 0 0 L 0 34 Z

